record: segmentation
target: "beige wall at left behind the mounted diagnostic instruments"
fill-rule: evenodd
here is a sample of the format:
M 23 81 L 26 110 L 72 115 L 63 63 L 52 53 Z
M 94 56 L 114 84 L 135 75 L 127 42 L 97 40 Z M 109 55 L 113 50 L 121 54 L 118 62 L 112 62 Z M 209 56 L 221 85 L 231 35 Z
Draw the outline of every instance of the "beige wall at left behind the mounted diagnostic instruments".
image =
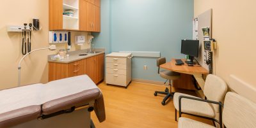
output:
M 22 25 L 31 22 L 33 17 L 40 19 L 41 31 L 34 31 L 32 50 L 45 48 L 48 43 L 48 0 L 1 0 L 0 4 L 0 89 L 17 86 L 18 62 L 22 57 L 22 36 L 18 32 L 6 32 L 6 25 Z M 88 45 L 74 46 L 75 35 L 87 35 L 87 32 L 72 32 L 72 50 L 90 48 Z M 65 48 L 65 45 L 57 45 Z M 22 62 L 21 83 L 47 83 L 47 55 L 58 52 L 42 50 L 34 52 Z

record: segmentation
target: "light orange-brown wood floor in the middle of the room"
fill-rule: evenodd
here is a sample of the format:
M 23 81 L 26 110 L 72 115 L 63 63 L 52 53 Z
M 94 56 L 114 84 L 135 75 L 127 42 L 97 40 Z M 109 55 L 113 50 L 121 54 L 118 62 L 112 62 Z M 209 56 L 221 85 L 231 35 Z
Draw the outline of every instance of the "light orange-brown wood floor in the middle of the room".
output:
M 132 82 L 128 89 L 105 83 L 100 83 L 99 88 L 104 96 L 106 120 L 99 123 L 95 113 L 92 113 L 92 120 L 97 128 L 177 127 L 172 100 L 166 106 L 162 106 L 161 101 L 164 96 L 154 96 L 154 91 L 164 90 L 164 86 Z M 175 90 L 175 92 L 195 96 L 193 91 Z M 190 118 L 212 124 L 207 120 Z

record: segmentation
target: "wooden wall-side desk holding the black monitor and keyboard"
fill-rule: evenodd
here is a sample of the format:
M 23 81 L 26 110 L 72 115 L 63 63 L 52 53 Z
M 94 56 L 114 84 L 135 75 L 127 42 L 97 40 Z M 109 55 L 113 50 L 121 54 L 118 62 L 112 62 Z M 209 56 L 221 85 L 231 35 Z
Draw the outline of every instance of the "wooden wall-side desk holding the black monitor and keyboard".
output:
M 188 66 L 188 64 L 185 63 L 185 60 L 186 59 L 182 59 L 184 65 L 176 66 L 175 59 L 172 59 L 170 62 L 162 64 L 160 68 L 175 71 L 177 73 L 182 73 L 180 76 L 181 78 L 173 82 L 173 87 L 195 90 L 193 82 L 191 82 L 191 75 L 193 75 L 196 79 L 196 82 L 198 82 L 200 87 L 204 90 L 204 78 L 202 76 L 209 74 L 209 71 L 207 71 L 207 69 L 203 68 L 198 64 L 196 64 L 195 66 Z

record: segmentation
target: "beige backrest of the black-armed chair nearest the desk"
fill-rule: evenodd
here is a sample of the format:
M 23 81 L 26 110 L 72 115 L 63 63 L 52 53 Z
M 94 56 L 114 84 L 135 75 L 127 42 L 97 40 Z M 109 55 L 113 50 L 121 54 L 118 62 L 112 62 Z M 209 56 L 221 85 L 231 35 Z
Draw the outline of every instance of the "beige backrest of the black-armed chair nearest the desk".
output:
M 220 102 L 223 101 L 225 94 L 227 93 L 227 84 L 218 76 L 208 75 L 204 85 L 204 95 L 211 101 Z M 213 105 L 214 110 L 219 112 L 219 106 Z

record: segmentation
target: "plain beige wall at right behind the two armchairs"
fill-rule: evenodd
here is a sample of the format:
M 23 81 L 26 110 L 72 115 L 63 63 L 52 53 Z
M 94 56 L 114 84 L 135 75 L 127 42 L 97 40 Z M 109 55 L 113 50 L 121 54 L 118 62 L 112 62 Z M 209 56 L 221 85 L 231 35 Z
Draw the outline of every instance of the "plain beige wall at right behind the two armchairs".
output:
M 195 0 L 195 17 L 212 8 L 212 38 L 218 41 L 216 75 L 229 75 L 256 87 L 256 1 Z

